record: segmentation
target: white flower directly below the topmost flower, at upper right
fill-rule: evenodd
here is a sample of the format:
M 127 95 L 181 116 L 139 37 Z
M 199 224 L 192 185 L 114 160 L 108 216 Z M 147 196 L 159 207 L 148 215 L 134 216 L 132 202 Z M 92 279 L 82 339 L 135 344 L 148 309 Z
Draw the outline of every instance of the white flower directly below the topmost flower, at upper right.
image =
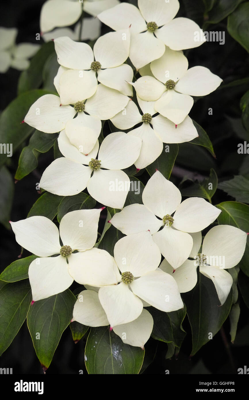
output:
M 193 106 L 191 96 L 205 96 L 221 84 L 222 79 L 205 67 L 188 68 L 182 52 L 166 47 L 161 58 L 151 62 L 153 76 L 142 76 L 134 86 L 142 100 L 155 102 L 154 108 L 174 124 L 180 124 Z M 159 100 L 158 100 L 159 99 Z

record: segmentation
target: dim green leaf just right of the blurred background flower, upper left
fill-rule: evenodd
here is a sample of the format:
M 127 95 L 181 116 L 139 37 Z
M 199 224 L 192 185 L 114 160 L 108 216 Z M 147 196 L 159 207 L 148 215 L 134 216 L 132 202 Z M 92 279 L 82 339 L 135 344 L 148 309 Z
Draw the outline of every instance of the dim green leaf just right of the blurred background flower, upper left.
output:
M 42 84 L 42 71 L 50 54 L 54 52 L 54 43 L 45 43 L 32 58 L 30 66 L 23 71 L 18 81 L 18 94 L 39 88 Z M 54 89 L 55 91 L 55 89 Z

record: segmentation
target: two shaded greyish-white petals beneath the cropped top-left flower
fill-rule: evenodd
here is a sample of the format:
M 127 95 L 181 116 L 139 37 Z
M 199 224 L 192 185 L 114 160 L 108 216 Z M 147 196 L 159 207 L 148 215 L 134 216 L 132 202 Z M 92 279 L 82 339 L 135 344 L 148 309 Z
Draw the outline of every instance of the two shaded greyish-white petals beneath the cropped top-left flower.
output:
M 72 40 L 96 40 L 101 34 L 101 22 L 97 18 L 84 18 L 84 24 L 80 35 L 80 22 L 76 24 L 74 30 L 70 28 L 56 28 L 51 32 L 44 33 L 42 38 L 44 42 L 52 39 L 68 36 Z M 80 37 L 79 37 L 80 36 Z

